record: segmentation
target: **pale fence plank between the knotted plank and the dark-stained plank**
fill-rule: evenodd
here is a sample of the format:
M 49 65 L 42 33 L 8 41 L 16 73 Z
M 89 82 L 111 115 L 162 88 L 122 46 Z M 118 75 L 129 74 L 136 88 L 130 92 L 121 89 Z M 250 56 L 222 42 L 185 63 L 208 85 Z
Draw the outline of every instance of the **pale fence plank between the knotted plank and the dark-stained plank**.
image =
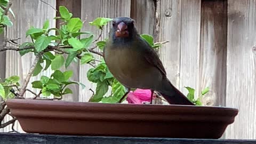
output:
M 181 1 L 180 90 L 196 89 L 198 95 L 201 0 Z

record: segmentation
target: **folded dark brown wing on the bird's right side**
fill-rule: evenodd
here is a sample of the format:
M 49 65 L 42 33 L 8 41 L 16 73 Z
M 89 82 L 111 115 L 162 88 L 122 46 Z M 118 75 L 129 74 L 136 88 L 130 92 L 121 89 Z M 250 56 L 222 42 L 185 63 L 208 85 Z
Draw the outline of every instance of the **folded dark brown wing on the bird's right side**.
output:
M 144 39 L 143 39 L 144 40 Z M 147 43 L 147 42 L 145 42 Z M 151 48 L 151 46 L 147 43 L 147 49 L 144 49 L 144 57 L 145 59 L 154 67 L 159 69 L 163 76 L 166 76 L 166 71 L 164 69 L 162 61 L 159 59 L 156 51 Z

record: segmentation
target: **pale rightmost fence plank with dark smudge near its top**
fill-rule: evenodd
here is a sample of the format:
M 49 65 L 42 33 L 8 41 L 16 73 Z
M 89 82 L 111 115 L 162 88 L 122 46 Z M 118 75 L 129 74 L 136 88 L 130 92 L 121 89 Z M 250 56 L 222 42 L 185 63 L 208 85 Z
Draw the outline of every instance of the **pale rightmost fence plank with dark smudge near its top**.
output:
M 256 1 L 228 0 L 226 106 L 239 109 L 227 138 L 256 139 Z

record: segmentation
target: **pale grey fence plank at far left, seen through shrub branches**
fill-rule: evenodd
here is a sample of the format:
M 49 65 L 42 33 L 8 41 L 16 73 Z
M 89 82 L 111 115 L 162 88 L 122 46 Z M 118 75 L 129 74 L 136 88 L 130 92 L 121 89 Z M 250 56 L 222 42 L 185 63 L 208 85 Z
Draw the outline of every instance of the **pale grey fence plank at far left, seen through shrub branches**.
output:
M 55 1 L 44 0 L 44 2 L 56 6 Z M 41 1 L 29 1 L 19 0 L 12 2 L 12 10 L 15 14 L 13 21 L 13 27 L 7 29 L 8 38 L 20 37 L 18 43 L 28 42 L 30 38 L 26 38 L 26 30 L 31 26 L 42 28 L 46 19 L 50 20 L 50 27 L 55 27 L 55 10 L 49 5 L 42 3 Z M 12 18 L 12 17 L 11 17 Z M 26 54 L 20 57 L 19 52 L 7 51 L 6 52 L 6 77 L 18 75 L 21 78 L 21 83 L 25 79 L 28 70 L 33 63 L 34 55 Z M 42 74 L 32 77 L 30 82 L 38 80 L 42 75 L 50 76 L 51 71 L 43 71 Z M 28 89 L 31 89 L 31 85 L 28 85 Z M 35 90 L 35 89 L 33 89 Z M 26 93 L 25 97 L 33 97 L 30 93 Z M 7 119 L 6 119 L 7 120 Z M 16 125 L 16 130 L 22 131 L 19 125 Z M 4 129 L 5 132 L 11 131 L 10 127 Z

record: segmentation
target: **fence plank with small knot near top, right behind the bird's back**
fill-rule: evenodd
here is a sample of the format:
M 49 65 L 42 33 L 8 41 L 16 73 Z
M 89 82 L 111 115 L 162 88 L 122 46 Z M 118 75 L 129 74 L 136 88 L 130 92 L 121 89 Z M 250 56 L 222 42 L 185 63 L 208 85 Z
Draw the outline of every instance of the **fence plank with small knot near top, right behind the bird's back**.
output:
M 156 3 L 155 38 L 158 42 L 170 41 L 159 49 L 159 57 L 167 77 L 179 89 L 181 1 L 165 0 Z

